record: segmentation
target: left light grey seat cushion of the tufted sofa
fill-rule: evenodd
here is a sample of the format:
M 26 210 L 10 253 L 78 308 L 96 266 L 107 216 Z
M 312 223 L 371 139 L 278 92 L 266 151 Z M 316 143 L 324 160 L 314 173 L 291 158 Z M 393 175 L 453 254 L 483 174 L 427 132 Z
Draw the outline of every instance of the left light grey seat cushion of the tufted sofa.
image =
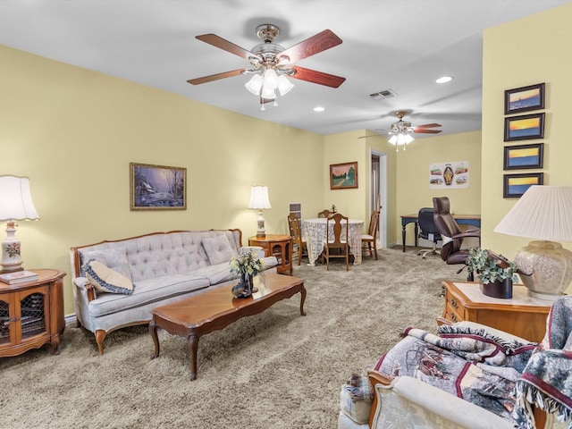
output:
M 89 314 L 98 317 L 141 307 L 151 302 L 161 305 L 162 300 L 209 286 L 208 279 L 189 274 L 172 274 L 137 282 L 130 296 L 101 293 L 89 301 Z

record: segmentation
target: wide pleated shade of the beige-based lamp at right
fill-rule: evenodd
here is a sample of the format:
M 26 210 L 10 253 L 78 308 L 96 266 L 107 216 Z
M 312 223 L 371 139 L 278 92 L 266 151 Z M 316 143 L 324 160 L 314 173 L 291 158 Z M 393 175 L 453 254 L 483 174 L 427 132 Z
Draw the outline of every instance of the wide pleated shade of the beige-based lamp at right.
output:
M 531 186 L 494 231 L 534 240 L 572 241 L 572 188 Z

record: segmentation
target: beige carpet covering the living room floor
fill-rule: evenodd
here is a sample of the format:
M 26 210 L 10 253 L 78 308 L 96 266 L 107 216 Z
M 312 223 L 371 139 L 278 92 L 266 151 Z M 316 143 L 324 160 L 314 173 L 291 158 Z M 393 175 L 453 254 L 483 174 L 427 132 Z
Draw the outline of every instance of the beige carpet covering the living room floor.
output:
M 299 295 L 199 341 L 198 380 L 187 342 L 146 327 L 114 332 L 97 355 L 93 334 L 66 327 L 47 348 L 0 359 L 2 428 L 335 428 L 341 384 L 373 365 L 408 325 L 434 331 L 444 279 L 458 266 L 411 249 L 380 250 L 345 271 L 337 261 L 295 266 Z

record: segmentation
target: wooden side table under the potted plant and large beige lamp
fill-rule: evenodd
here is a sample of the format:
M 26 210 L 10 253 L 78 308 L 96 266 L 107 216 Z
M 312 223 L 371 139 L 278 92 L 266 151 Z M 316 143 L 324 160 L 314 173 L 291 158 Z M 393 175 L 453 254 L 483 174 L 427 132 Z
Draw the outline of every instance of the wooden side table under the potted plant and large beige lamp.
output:
M 470 321 L 512 333 L 528 341 L 543 341 L 551 302 L 529 297 L 522 284 L 513 285 L 512 298 L 492 298 L 478 282 L 443 282 L 442 317 L 451 322 Z

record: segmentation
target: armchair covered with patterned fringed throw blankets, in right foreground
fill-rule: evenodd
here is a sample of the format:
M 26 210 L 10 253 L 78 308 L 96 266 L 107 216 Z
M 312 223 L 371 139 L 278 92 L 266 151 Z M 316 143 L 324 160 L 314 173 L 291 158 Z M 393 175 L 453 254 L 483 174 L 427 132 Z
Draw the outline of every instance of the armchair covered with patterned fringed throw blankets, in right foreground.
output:
M 541 344 L 483 324 L 408 328 L 341 389 L 339 429 L 572 428 L 572 296 L 554 303 Z M 371 391 L 371 394 L 365 392 Z

